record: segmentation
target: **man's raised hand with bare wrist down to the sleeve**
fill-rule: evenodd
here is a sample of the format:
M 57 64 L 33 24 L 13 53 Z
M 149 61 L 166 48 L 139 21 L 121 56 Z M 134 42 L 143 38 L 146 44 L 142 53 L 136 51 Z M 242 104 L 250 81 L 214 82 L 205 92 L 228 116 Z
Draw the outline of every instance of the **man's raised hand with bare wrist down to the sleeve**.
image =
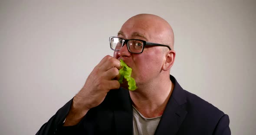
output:
M 109 55 L 105 56 L 93 69 L 84 87 L 73 98 L 72 107 L 64 125 L 75 125 L 89 109 L 103 102 L 109 90 L 118 89 L 120 61 Z

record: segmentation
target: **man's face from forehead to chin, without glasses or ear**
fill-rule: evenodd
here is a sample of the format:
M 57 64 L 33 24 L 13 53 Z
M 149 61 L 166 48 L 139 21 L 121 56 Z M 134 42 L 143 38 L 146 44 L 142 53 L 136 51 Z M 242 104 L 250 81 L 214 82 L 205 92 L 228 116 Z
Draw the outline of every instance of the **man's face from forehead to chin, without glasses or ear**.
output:
M 141 39 L 149 42 L 161 43 L 158 36 L 157 24 L 147 19 L 129 19 L 118 32 L 118 37 L 123 39 Z M 163 47 L 145 47 L 141 54 L 130 53 L 125 44 L 120 51 L 114 52 L 114 58 L 123 59 L 132 68 L 131 77 L 135 78 L 139 86 L 151 83 L 159 77 L 164 62 Z

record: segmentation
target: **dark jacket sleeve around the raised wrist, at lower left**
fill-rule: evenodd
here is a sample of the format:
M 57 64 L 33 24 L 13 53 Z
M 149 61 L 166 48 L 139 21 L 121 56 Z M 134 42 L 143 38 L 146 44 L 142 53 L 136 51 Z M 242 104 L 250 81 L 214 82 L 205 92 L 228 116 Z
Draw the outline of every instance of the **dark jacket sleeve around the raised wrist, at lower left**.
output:
M 62 108 L 60 108 L 57 113 L 52 116 L 51 119 L 49 119 L 48 122 L 42 125 L 36 135 L 56 135 L 59 130 L 63 130 L 62 125 L 69 113 L 72 101 L 73 99 L 66 103 Z

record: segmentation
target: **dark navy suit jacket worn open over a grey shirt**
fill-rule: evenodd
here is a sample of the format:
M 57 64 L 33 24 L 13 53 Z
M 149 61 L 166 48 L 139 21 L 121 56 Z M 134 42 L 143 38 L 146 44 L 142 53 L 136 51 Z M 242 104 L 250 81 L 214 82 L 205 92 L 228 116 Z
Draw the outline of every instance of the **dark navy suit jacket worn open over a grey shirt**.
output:
M 155 135 L 230 135 L 229 117 L 183 90 L 170 76 L 174 90 L 156 129 Z M 110 90 L 105 100 L 92 108 L 75 126 L 63 127 L 72 100 L 57 111 L 36 135 L 132 135 L 133 110 L 128 90 Z

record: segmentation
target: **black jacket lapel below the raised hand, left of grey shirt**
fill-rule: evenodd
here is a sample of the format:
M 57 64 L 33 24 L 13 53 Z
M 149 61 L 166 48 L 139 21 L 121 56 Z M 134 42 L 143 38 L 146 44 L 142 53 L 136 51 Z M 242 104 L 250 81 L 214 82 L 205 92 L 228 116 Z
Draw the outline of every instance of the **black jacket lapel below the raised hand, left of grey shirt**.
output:
M 132 135 L 133 113 L 128 90 L 120 88 L 113 101 L 117 135 Z

